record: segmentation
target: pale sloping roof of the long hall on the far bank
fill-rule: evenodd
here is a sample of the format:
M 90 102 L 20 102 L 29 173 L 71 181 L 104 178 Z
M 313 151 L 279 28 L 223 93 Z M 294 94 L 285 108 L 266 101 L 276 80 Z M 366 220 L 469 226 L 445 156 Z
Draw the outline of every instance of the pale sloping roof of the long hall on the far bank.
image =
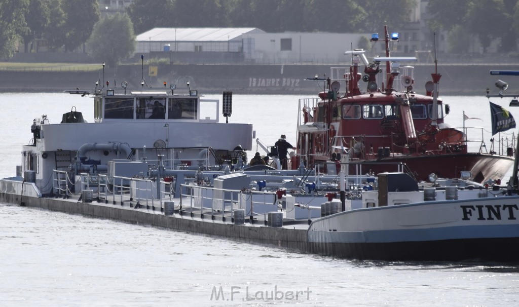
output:
M 228 41 L 245 33 L 258 30 L 254 27 L 156 27 L 137 35 L 137 41 Z M 261 31 L 261 30 L 258 30 Z M 263 31 L 261 31 L 263 32 Z

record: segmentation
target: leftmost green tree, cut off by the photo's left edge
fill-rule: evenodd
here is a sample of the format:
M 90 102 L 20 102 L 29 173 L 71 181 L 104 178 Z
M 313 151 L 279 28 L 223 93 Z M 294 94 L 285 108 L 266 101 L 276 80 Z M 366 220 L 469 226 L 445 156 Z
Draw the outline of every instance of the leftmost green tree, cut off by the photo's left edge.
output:
M 19 33 L 25 25 L 28 0 L 2 0 L 0 2 L 0 59 L 12 57 Z

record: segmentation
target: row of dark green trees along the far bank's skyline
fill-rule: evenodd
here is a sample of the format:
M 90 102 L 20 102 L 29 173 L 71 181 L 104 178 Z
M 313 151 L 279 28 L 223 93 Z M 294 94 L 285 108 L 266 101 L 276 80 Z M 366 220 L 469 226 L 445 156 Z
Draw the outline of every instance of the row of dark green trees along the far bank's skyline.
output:
M 89 53 L 101 47 L 109 52 L 110 38 L 125 34 L 131 40 L 134 33 L 154 27 L 375 33 L 387 24 L 398 31 L 416 6 L 415 0 L 134 0 L 124 17 L 102 20 L 98 0 L 2 0 L 0 59 L 11 57 L 17 42 L 23 43 L 24 52 L 37 51 L 34 43 L 39 39 L 54 51 L 85 51 L 90 46 Z M 430 0 L 427 11 L 432 15 L 430 29 L 448 33 L 449 51 L 467 52 L 474 37 L 485 49 L 495 39 L 500 52 L 517 49 L 519 0 Z M 105 24 L 94 27 L 97 23 Z M 95 44 L 105 36 L 103 46 Z

